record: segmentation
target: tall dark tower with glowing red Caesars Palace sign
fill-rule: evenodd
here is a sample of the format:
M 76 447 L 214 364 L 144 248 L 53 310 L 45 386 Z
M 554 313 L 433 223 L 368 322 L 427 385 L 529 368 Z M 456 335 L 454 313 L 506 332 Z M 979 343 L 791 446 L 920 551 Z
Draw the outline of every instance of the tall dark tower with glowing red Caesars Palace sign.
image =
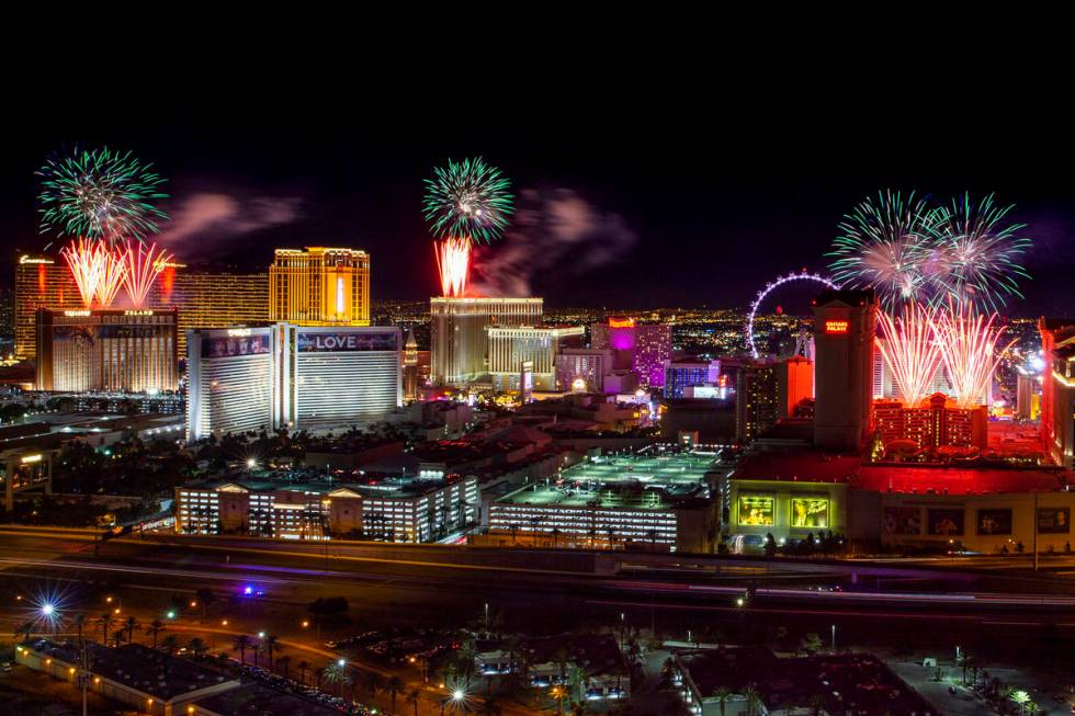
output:
M 814 442 L 858 451 L 870 432 L 876 297 L 872 291 L 826 291 L 813 308 Z

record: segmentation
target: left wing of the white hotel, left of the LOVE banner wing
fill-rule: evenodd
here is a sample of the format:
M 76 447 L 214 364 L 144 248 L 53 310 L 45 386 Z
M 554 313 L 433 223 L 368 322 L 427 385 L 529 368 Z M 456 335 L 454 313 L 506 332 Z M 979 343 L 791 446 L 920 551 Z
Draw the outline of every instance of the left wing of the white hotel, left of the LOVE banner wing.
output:
M 186 440 L 269 430 L 280 421 L 280 331 L 210 328 L 186 333 Z

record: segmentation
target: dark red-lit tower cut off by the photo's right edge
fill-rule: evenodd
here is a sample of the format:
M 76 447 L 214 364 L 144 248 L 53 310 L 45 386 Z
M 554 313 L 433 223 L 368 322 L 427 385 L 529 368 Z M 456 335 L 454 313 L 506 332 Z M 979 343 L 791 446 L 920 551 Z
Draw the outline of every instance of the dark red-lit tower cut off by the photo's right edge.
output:
M 1075 319 L 1038 322 L 1045 370 L 1041 384 L 1041 436 L 1054 463 L 1071 468 L 1075 453 Z

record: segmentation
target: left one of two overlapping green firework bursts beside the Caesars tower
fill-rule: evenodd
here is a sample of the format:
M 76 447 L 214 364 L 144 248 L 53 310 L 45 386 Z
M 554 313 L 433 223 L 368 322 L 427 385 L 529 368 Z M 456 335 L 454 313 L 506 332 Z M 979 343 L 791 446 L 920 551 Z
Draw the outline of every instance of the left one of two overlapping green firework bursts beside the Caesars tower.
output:
M 886 306 L 906 300 L 929 300 L 924 266 L 930 259 L 926 223 L 929 204 L 912 192 L 879 192 L 844 217 L 828 255 L 837 283 L 849 288 L 872 287 Z

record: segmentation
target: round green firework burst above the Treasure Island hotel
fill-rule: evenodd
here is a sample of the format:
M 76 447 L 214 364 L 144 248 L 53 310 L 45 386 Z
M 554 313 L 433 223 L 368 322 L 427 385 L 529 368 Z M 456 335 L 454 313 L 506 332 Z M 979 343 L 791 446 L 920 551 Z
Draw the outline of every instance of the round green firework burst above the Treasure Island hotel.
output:
M 108 147 L 49 159 L 42 178 L 41 229 L 113 245 L 143 240 L 157 232 L 156 219 L 168 218 L 154 203 L 168 195 L 165 180 L 131 152 Z

